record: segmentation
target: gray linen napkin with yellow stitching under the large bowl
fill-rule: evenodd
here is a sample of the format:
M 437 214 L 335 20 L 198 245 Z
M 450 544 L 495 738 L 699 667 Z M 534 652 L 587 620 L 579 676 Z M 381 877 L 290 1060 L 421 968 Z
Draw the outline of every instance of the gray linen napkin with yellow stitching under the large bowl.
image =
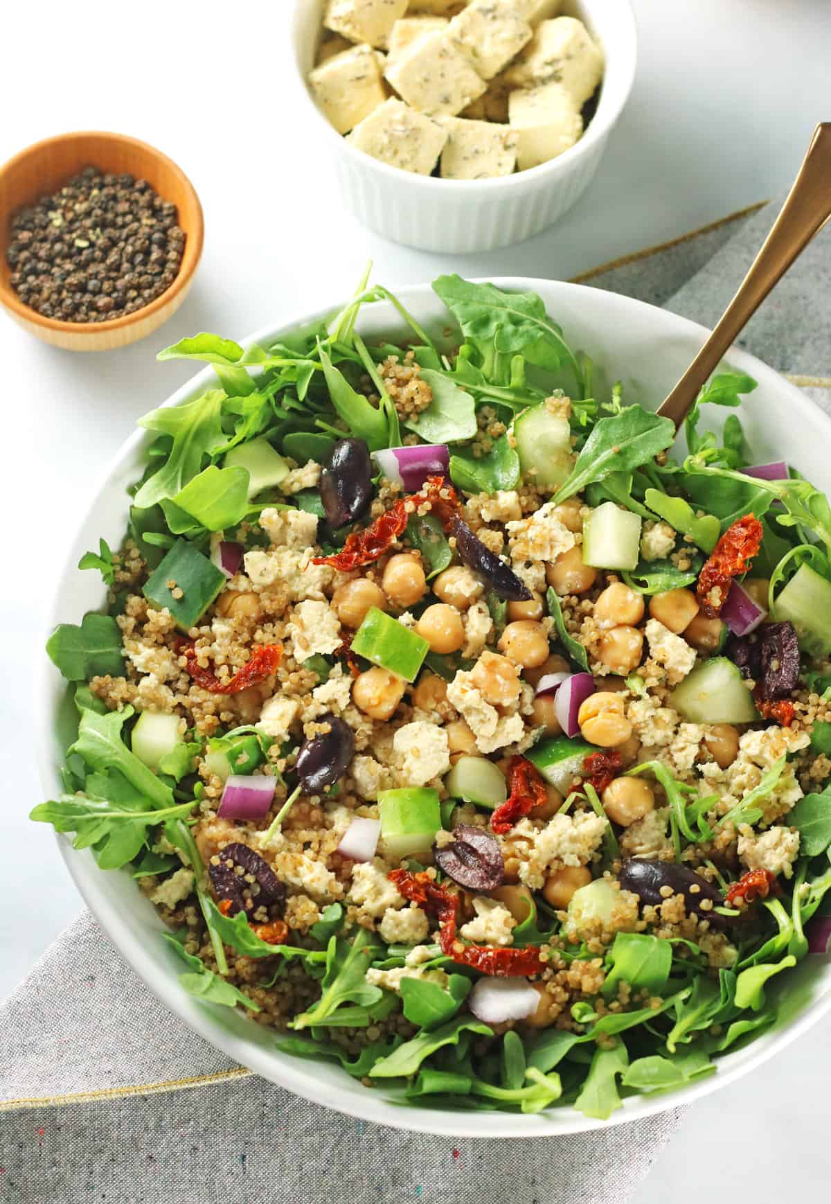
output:
M 712 325 L 770 228 L 760 208 L 582 279 Z M 827 236 L 742 346 L 831 412 Z M 561 1139 L 406 1134 L 272 1086 L 194 1035 L 83 913 L 0 1007 L 0 1200 L 624 1204 L 683 1109 Z

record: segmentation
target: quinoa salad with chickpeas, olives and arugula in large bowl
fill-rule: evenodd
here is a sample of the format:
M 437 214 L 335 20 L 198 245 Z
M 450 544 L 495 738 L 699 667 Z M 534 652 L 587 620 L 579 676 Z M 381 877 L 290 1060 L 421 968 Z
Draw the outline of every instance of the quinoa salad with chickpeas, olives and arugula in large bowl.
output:
M 78 734 L 33 819 L 277 1049 L 606 1119 L 826 951 L 831 508 L 753 464 L 750 378 L 679 449 L 535 294 L 434 289 L 441 346 L 365 279 L 273 346 L 159 355 L 217 380 L 141 419 L 124 541 L 79 562 L 107 609 L 49 638 Z M 365 342 L 377 302 L 407 337 Z

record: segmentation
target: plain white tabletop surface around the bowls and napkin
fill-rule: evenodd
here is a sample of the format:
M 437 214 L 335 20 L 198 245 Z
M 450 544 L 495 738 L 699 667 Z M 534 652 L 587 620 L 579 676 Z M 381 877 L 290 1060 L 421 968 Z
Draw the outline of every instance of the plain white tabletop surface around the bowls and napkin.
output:
M 0 318 L 0 997 L 81 905 L 51 830 L 26 821 L 40 798 L 34 683 L 69 535 L 135 419 L 190 374 L 185 364 L 155 365 L 155 352 L 199 330 L 240 337 L 336 300 L 367 258 L 391 287 L 449 270 L 568 278 L 779 193 L 814 124 L 831 119 L 830 0 L 635 0 L 637 81 L 588 196 L 526 243 L 453 260 L 387 243 L 341 212 L 287 78 L 291 4 L 16 0 L 4 13 L 0 161 L 61 130 L 134 134 L 193 179 L 206 243 L 184 307 L 135 347 L 76 355 Z M 830 1038 L 826 1022 L 697 1104 L 638 1204 L 821 1193 Z

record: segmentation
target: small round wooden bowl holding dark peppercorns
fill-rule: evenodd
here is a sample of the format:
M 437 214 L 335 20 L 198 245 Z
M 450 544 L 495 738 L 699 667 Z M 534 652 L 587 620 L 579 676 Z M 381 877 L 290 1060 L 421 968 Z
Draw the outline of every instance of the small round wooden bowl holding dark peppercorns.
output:
M 184 254 L 173 283 L 154 301 L 110 321 L 59 321 L 25 305 L 8 283 L 6 260 L 11 219 L 25 205 L 49 195 L 88 166 L 146 179 L 178 209 L 185 234 Z M 0 302 L 30 334 L 70 352 L 107 352 L 126 347 L 157 330 L 184 301 L 202 254 L 205 225 L 196 191 L 176 164 L 154 147 L 124 134 L 59 134 L 26 147 L 0 167 Z

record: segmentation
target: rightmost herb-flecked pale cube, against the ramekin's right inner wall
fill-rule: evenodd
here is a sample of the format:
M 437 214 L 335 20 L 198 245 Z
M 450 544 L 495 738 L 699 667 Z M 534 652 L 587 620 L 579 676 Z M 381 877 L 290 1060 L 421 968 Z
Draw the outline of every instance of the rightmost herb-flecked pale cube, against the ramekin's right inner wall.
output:
M 601 81 L 603 54 L 583 22 L 555 17 L 542 22 L 506 75 L 517 88 L 556 79 L 580 108 Z

